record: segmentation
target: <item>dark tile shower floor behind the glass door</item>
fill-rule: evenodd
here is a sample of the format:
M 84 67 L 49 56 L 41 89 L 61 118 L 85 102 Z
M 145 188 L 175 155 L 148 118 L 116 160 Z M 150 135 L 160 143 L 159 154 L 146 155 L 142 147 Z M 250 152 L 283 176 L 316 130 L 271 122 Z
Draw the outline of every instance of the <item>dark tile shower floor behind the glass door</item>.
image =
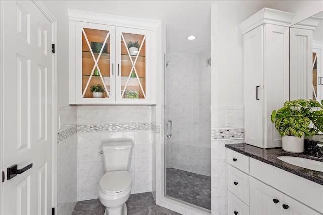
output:
M 211 177 L 166 169 L 166 195 L 211 210 Z

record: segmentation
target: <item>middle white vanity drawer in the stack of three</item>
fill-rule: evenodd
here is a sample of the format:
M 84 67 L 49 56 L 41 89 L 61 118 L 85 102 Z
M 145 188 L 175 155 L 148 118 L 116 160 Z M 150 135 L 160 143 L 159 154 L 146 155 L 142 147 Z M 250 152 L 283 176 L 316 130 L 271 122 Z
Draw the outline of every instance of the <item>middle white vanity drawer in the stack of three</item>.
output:
M 249 175 L 228 165 L 228 190 L 249 206 Z

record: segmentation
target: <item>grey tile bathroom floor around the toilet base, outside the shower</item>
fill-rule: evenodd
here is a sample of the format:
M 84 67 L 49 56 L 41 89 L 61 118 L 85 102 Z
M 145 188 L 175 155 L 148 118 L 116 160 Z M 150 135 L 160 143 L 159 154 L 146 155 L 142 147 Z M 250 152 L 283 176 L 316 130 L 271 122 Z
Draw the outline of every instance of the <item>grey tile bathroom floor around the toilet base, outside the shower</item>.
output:
M 155 204 L 152 194 L 138 193 L 130 195 L 127 204 L 128 215 L 177 215 L 172 210 L 160 207 Z M 72 215 L 97 215 L 104 214 L 105 207 L 99 199 L 79 201 L 73 210 Z

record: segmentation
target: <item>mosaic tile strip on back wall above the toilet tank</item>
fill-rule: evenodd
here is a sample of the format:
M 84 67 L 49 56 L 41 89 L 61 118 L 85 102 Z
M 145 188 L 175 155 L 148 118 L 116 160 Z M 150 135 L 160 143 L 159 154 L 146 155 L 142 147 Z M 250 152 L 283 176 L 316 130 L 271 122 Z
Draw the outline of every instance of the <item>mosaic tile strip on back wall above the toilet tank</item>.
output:
M 77 125 L 77 132 L 106 132 L 106 131 L 125 131 L 125 130 L 149 130 L 152 123 L 110 123 Z

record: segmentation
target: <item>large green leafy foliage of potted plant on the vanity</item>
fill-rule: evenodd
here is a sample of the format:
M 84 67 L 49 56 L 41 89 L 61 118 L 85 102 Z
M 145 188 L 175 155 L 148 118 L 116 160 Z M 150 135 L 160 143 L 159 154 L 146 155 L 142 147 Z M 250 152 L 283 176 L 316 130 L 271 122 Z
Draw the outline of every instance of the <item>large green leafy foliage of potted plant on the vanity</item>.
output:
M 282 108 L 272 112 L 271 121 L 281 137 L 292 135 L 302 138 L 316 135 L 319 131 L 323 132 L 323 105 L 321 103 L 312 99 L 286 101 Z

